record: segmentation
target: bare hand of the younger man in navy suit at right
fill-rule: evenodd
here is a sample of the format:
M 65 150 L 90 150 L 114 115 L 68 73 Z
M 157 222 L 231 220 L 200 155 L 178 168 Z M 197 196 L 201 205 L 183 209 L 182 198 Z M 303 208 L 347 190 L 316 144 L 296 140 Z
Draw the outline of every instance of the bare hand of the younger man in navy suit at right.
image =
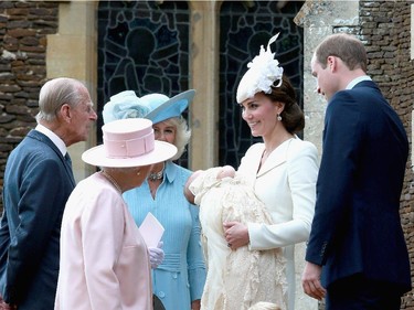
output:
M 301 275 L 301 286 L 306 295 L 321 300 L 325 298 L 327 290 L 320 284 L 322 267 L 306 261 L 304 274 Z

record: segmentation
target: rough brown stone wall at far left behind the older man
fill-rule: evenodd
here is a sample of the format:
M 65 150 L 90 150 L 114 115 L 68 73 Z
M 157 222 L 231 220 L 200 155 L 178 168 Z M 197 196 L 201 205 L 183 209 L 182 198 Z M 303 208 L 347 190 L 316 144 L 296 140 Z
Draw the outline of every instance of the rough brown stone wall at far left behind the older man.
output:
M 51 1 L 0 1 L 0 186 L 10 151 L 35 126 L 46 35 L 56 32 L 57 13 Z

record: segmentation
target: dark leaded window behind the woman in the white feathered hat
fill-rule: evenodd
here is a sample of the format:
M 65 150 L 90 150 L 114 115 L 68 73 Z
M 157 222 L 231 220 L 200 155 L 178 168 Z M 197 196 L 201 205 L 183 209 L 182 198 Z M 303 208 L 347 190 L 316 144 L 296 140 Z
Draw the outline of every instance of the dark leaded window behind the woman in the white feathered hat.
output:
M 299 105 L 302 93 L 302 29 L 294 18 L 304 1 L 288 1 L 278 8 L 279 1 L 223 1 L 220 13 L 220 164 L 238 167 L 254 138 L 242 119 L 236 104 L 240 79 L 247 71 L 247 63 L 267 46 L 268 40 L 280 32 L 270 45 L 276 58 L 290 78 Z

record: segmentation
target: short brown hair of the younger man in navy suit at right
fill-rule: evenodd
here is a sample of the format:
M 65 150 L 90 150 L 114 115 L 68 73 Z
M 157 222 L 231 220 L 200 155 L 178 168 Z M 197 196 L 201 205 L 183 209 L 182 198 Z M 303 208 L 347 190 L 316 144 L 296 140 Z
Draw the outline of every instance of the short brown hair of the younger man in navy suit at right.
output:
M 315 50 L 317 62 L 327 67 L 327 58 L 337 56 L 349 70 L 361 68 L 367 72 L 367 51 L 362 42 L 347 33 L 336 33 L 327 36 Z

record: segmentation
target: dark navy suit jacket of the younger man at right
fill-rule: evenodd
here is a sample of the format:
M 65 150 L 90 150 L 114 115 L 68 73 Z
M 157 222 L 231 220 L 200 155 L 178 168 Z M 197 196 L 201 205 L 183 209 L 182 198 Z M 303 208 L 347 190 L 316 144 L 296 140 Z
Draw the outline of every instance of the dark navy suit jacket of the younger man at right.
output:
M 411 289 L 399 213 L 407 156 L 405 129 L 373 82 L 331 98 L 306 253 L 323 266 L 325 287 L 362 274 Z

